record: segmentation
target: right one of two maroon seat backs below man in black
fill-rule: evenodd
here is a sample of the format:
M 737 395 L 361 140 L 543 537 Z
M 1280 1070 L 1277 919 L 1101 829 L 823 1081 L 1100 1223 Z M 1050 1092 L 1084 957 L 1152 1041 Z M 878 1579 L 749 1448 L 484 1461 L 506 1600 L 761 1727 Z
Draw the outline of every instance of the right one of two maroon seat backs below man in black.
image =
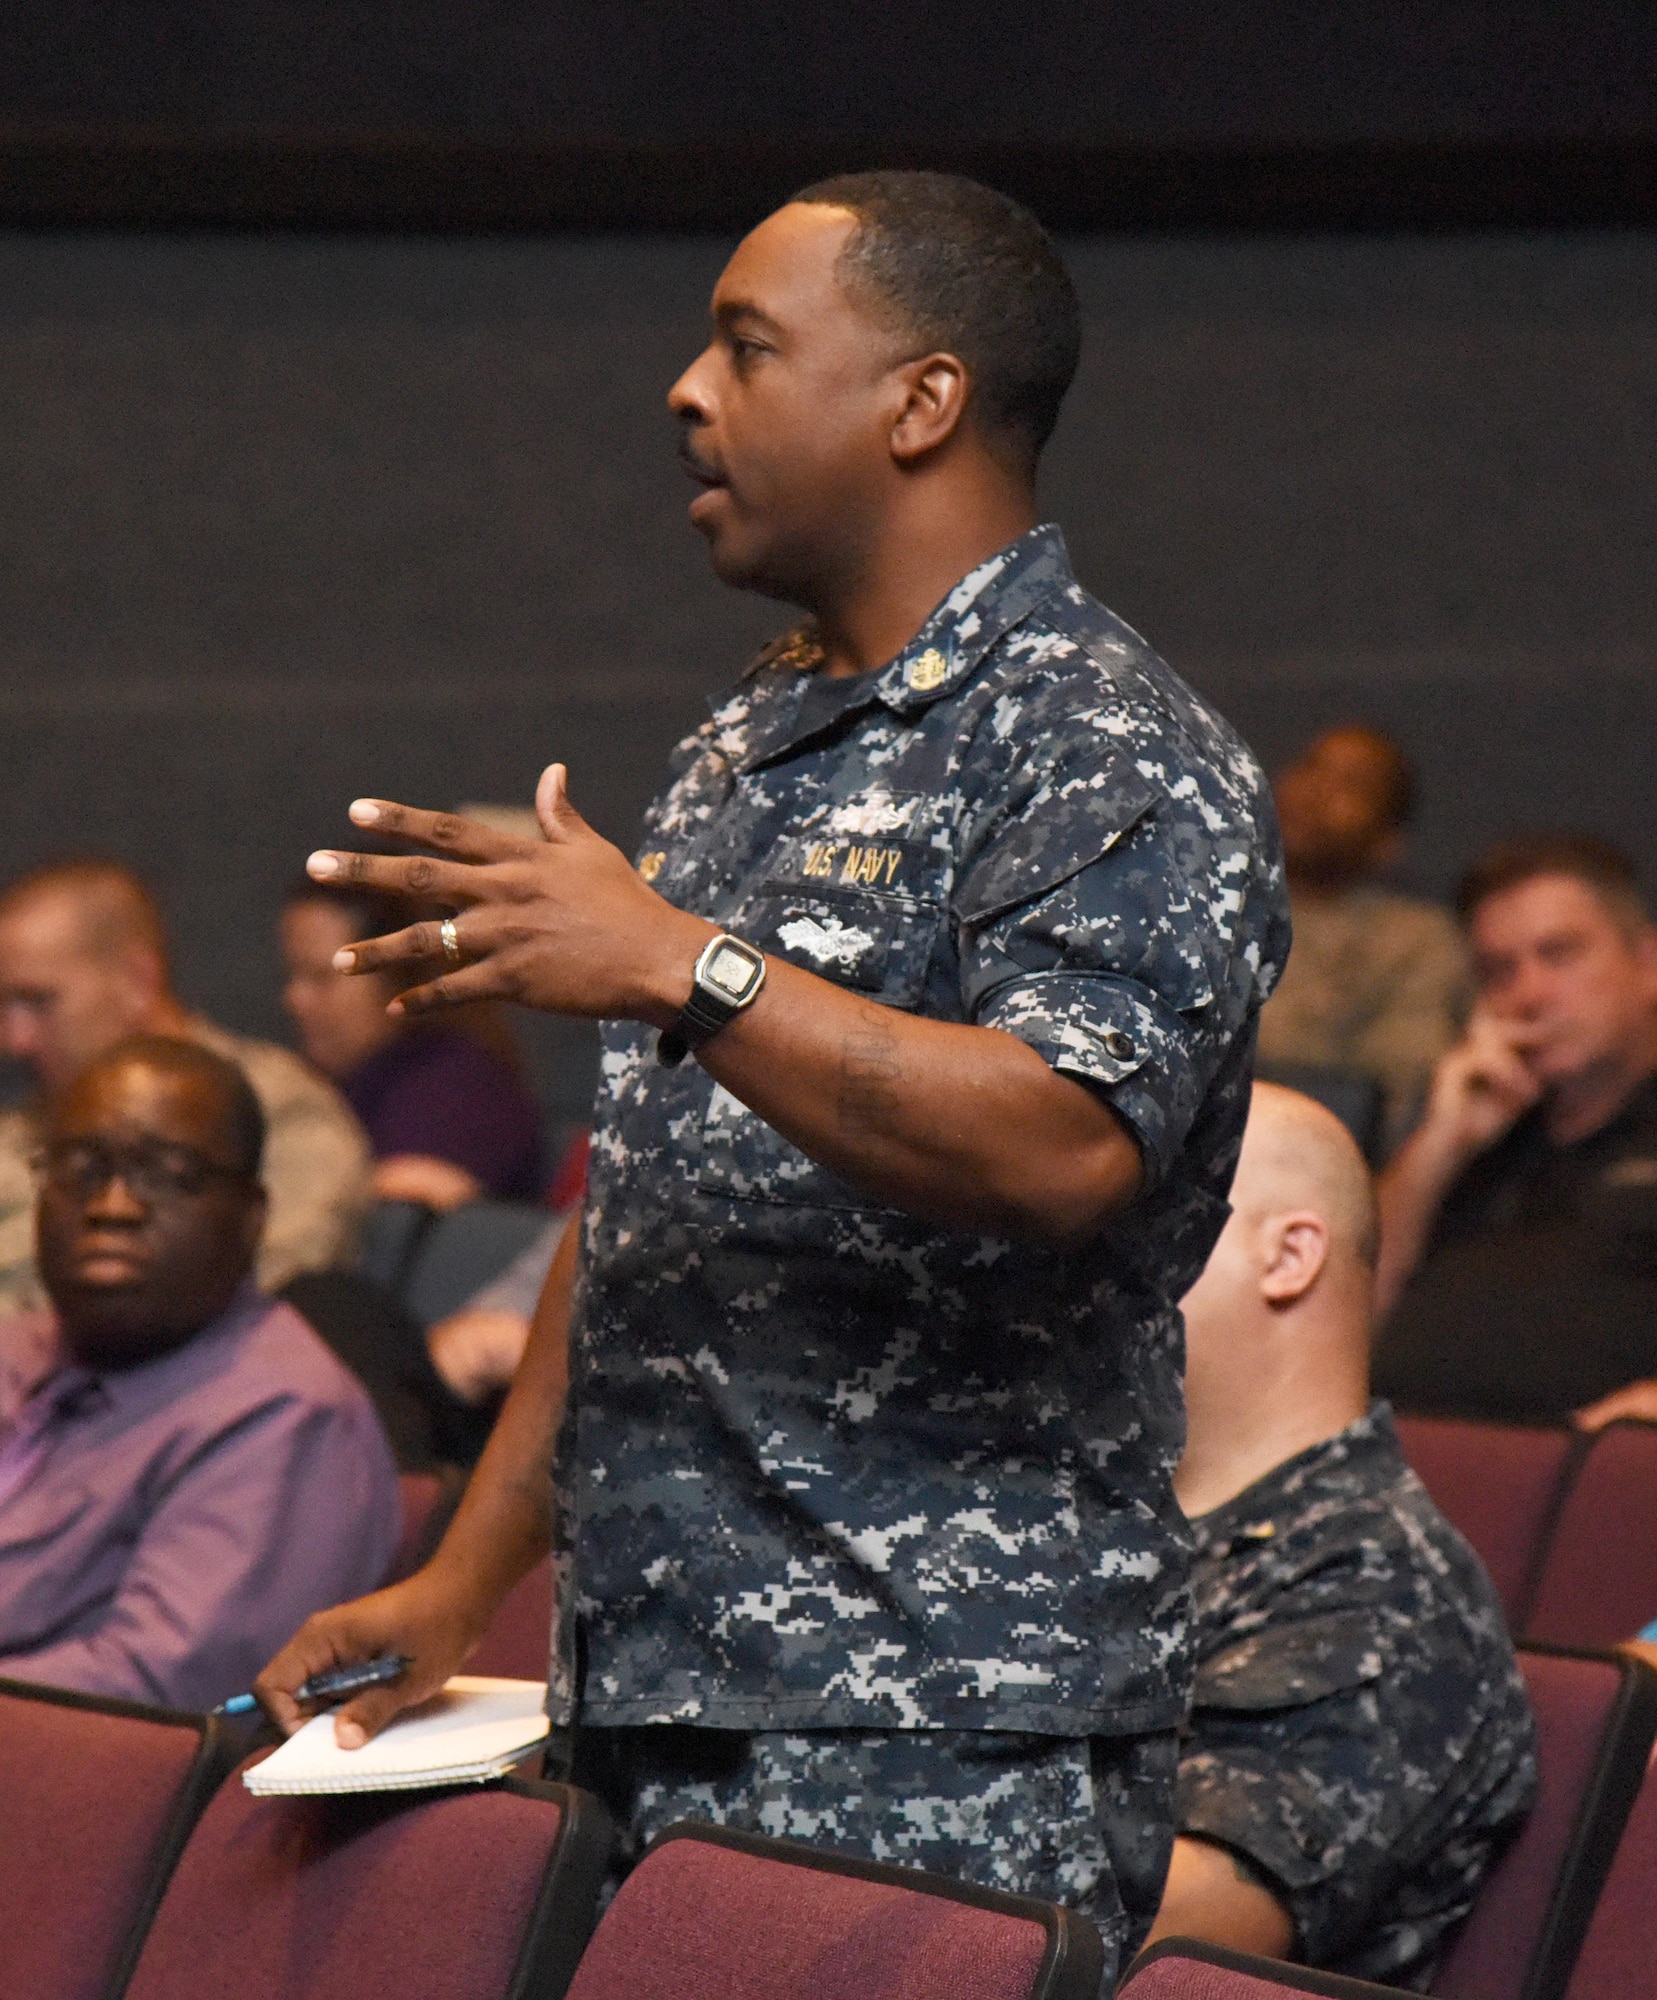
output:
M 1615 1646 L 1657 1618 L 1657 1424 L 1589 1442 L 1547 1546 L 1525 1638 Z

